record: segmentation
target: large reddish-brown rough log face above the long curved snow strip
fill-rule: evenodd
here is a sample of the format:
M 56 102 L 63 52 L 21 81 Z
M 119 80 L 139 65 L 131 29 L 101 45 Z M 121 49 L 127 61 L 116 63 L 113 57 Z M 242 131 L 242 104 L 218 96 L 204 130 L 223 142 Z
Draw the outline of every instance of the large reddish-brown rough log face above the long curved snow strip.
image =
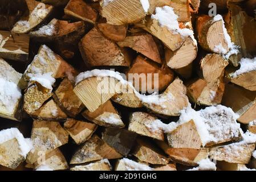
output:
M 79 49 L 88 67 L 104 65 L 128 67 L 130 64 L 122 50 L 114 42 L 101 35 L 96 28 L 84 36 L 79 43 Z

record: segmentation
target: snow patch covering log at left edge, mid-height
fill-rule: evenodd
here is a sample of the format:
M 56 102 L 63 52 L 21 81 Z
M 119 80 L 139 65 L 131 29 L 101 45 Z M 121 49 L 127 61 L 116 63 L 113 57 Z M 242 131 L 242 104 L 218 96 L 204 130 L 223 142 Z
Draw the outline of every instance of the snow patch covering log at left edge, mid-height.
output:
M 14 82 L 0 78 L 0 105 L 6 108 L 9 113 L 14 110 L 22 97 L 21 89 Z

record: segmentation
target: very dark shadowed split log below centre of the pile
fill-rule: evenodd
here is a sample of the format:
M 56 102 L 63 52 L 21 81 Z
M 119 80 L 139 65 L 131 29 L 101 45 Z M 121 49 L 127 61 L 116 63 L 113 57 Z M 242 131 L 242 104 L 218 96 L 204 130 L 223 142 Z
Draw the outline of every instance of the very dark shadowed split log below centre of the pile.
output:
M 119 154 L 127 156 L 135 143 L 137 135 L 124 129 L 106 128 L 102 139 Z

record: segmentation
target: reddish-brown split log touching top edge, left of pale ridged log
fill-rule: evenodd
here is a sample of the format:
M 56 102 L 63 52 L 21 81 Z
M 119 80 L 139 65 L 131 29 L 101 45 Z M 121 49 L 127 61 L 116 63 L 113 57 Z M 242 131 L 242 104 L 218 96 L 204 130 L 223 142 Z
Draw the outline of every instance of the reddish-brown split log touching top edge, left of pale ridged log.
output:
M 64 9 L 64 13 L 72 18 L 95 23 L 97 20 L 97 11 L 92 9 L 83 0 L 71 0 Z

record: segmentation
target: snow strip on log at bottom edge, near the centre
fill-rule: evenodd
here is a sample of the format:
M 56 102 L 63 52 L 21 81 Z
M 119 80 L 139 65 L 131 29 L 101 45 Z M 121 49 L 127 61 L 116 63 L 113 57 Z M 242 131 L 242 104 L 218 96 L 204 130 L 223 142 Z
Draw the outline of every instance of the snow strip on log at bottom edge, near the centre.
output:
M 152 171 L 153 170 L 153 168 L 145 164 L 140 164 L 127 158 L 121 159 L 119 163 L 124 164 L 125 171 Z

